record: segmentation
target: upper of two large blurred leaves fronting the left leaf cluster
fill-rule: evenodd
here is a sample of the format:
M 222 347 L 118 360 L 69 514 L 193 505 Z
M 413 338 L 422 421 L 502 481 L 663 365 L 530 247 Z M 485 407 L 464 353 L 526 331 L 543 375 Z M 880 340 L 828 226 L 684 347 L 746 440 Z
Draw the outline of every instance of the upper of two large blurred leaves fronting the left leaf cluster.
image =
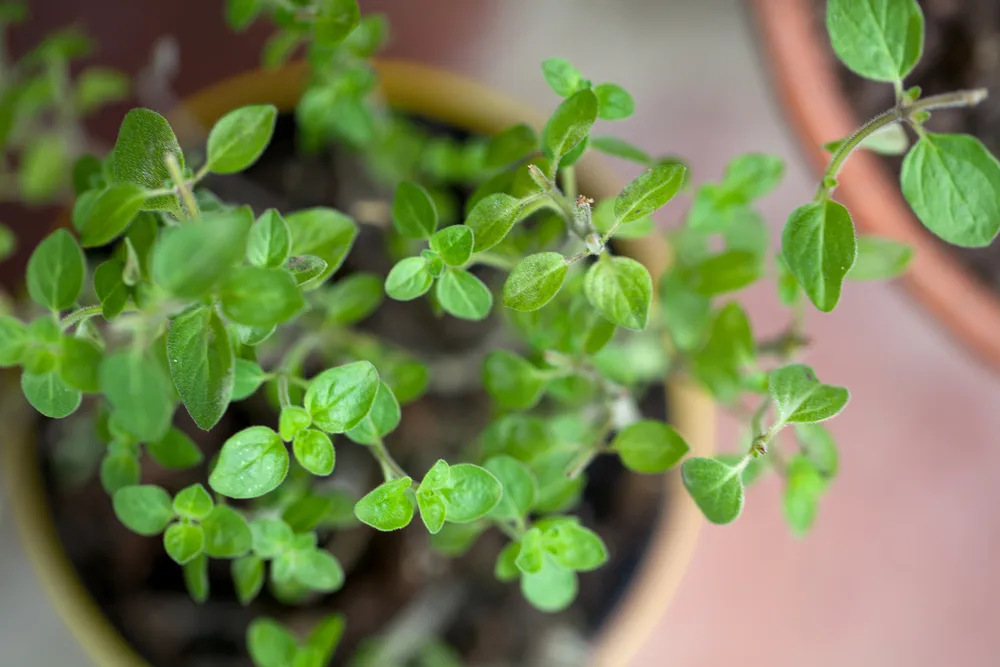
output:
M 153 249 L 153 280 L 174 296 L 200 298 L 243 259 L 252 222 L 248 210 L 236 209 L 165 229 Z

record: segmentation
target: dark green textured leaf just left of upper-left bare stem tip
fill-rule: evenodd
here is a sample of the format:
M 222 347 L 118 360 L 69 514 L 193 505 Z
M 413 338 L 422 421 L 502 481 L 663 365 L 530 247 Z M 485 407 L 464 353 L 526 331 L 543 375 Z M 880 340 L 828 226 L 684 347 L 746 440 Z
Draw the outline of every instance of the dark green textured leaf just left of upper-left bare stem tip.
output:
M 115 180 L 135 183 L 146 190 L 164 187 L 170 179 L 165 162 L 168 153 L 177 158 L 183 170 L 184 154 L 167 119 L 149 109 L 132 109 L 122 121 L 115 142 Z M 142 208 L 176 211 L 180 209 L 180 201 L 177 195 L 158 195 L 148 198 Z

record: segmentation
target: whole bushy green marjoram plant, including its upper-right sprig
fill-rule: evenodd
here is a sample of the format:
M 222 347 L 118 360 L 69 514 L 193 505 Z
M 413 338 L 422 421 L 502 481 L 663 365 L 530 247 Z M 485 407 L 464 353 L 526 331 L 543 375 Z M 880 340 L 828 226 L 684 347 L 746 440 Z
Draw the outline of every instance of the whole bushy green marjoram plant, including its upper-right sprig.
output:
M 275 107 L 231 111 L 204 150 L 188 155 L 162 116 L 134 109 L 110 154 L 76 162 L 72 229 L 35 248 L 31 303 L 0 317 L 0 366 L 21 368 L 24 396 L 46 417 L 81 406 L 93 412 L 107 444 L 100 478 L 115 513 L 141 535 L 162 536 L 198 601 L 209 595 L 210 559 L 231 562 L 244 604 L 265 582 L 290 604 L 336 591 L 344 573 L 318 535 L 352 518 L 395 531 L 419 515 L 452 555 L 482 531 L 502 531 L 509 543 L 497 556 L 497 578 L 516 582 L 538 609 L 562 610 L 579 574 L 608 559 L 601 537 L 570 513 L 600 455 L 645 475 L 680 466 L 716 524 L 734 521 L 744 488 L 773 472 L 784 481 L 791 529 L 805 533 L 838 468 L 821 422 L 849 398 L 796 360 L 806 310 L 831 312 L 845 279 L 892 278 L 911 257 L 891 240 L 856 234 L 832 198 L 840 168 L 858 149 L 905 152 L 902 192 L 929 230 L 982 246 L 1000 229 L 1000 164 L 977 139 L 925 125 L 931 112 L 974 105 L 985 91 L 925 97 L 904 85 L 923 47 L 914 0 L 829 0 L 836 54 L 858 75 L 893 85 L 896 103 L 828 145 L 816 195 L 791 212 L 777 253 L 755 205 L 778 185 L 779 158 L 739 156 L 720 181 L 693 187 L 682 161 L 593 134 L 599 120 L 630 116 L 633 98 L 613 83 L 592 83 L 566 60 L 542 63 L 561 101 L 540 133 L 518 124 L 459 142 L 429 137 L 385 106 L 369 59 L 386 22 L 361 17 L 356 0 L 230 0 L 227 12 L 235 29 L 263 15 L 279 26 L 267 64 L 305 45 L 310 80 L 296 110 L 302 149 L 345 144 L 395 186 L 385 207 L 392 270 L 335 277 L 358 234 L 343 212 L 253 211 L 203 187 L 210 174 L 254 164 L 271 140 Z M 65 56 L 52 47 L 39 57 L 55 72 L 46 81 L 62 80 Z M 19 104 L 49 99 L 32 81 L 14 96 Z M 915 134 L 912 146 L 904 127 Z M 16 147 L 30 155 L 35 145 Z M 574 171 L 592 150 L 644 170 L 616 197 L 595 202 Z M 451 183 L 475 186 L 464 215 L 461 202 L 442 199 Z M 693 195 L 684 223 L 657 230 L 652 214 L 681 192 Z M 675 257 L 654 291 L 647 268 L 613 245 L 661 233 Z M 84 251 L 95 248 L 108 258 L 92 267 Z M 474 274 L 477 266 L 494 271 L 482 275 L 506 273 L 502 288 Z M 730 298 L 764 277 L 776 278 L 791 312 L 785 333 L 770 340 L 754 336 Z M 443 318 L 492 314 L 520 341 L 516 352 L 494 349 L 485 358 L 482 384 L 495 414 L 463 460 L 406 470 L 385 445 L 401 406 L 426 390 L 429 371 L 355 327 L 384 295 L 424 299 Z M 642 417 L 642 392 L 678 376 L 746 419 L 739 451 L 687 457 L 682 434 Z M 142 483 L 148 461 L 172 469 L 203 462 L 173 425 L 179 406 L 208 430 L 232 402 L 258 391 L 275 397 L 276 420 L 232 434 L 204 485 L 171 494 Z M 782 443 L 779 435 L 791 437 Z M 335 439 L 370 452 L 383 483 L 349 499 L 319 483 L 336 466 Z M 345 516 L 352 506 L 353 517 Z M 259 619 L 248 650 L 260 667 L 319 667 L 344 622 L 332 616 L 300 639 Z

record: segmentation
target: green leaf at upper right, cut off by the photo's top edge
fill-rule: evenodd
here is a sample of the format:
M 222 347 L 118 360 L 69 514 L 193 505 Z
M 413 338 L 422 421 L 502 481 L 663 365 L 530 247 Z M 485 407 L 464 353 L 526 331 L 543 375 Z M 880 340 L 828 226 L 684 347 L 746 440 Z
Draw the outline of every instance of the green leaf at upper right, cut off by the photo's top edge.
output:
M 924 49 L 924 15 L 915 0 L 829 0 L 826 29 L 841 62 L 875 81 L 902 81 Z

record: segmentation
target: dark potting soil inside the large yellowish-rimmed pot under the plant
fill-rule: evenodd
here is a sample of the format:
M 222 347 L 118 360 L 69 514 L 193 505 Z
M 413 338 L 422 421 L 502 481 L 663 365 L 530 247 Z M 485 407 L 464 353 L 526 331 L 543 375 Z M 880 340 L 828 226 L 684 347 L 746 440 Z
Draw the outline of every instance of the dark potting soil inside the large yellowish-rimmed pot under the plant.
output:
M 429 126 L 431 127 L 431 126 Z M 461 138 L 447 128 L 433 128 Z M 210 184 L 223 199 L 250 203 L 258 213 L 310 206 L 350 210 L 359 200 L 389 195 L 364 175 L 356 158 L 332 150 L 305 156 L 295 150 L 291 118 L 279 119 L 275 138 L 248 179 Z M 461 202 L 468 192 L 456 190 Z M 391 260 L 381 233 L 362 225 L 344 267 L 337 273 L 378 271 Z M 484 270 L 494 287 L 502 276 Z M 432 383 L 421 399 L 404 407 L 403 420 L 386 444 L 404 468 L 422 472 L 438 458 L 455 460 L 487 423 L 490 401 L 475 381 L 482 354 L 495 340 L 499 322 L 463 322 L 437 318 L 425 299 L 408 303 L 386 300 L 362 323 L 373 333 L 398 343 L 431 363 L 435 372 L 453 377 Z M 450 371 L 447 369 L 451 369 Z M 444 370 L 442 370 L 444 369 Z M 468 379 L 473 382 L 468 382 Z M 259 392 L 263 393 L 263 392 Z M 644 414 L 665 419 L 662 386 L 653 387 L 641 404 Z M 277 415 L 262 396 L 234 404 L 209 433 L 198 431 L 183 408 L 177 423 L 195 438 L 206 461 L 232 433 L 254 424 L 276 424 Z M 365 638 L 400 621 L 417 622 L 424 636 L 435 634 L 460 651 L 469 665 L 552 667 L 552 651 L 562 652 L 592 637 L 607 619 L 632 579 L 652 534 L 663 499 L 659 476 L 626 471 L 617 458 L 599 457 L 588 470 L 588 484 L 577 513 L 605 540 L 610 561 L 580 577 L 577 602 L 560 614 L 543 614 L 523 599 L 517 584 L 497 582 L 497 554 L 506 538 L 485 532 L 457 559 L 430 548 L 419 519 L 405 530 L 378 533 L 365 526 L 320 534 L 320 544 L 343 564 L 346 583 L 330 595 L 317 595 L 300 606 L 278 603 L 264 591 L 248 608 L 240 606 L 231 582 L 230 563 L 211 561 L 211 595 L 203 605 L 188 596 L 179 568 L 164 553 L 159 538 L 144 538 L 124 528 L 96 476 L 68 481 L 67 471 L 91 469 L 103 446 L 79 418 L 44 422 L 40 456 L 58 534 L 84 585 L 125 639 L 154 667 L 249 667 L 244 637 L 247 624 L 267 615 L 303 633 L 321 617 L 344 613 L 347 632 L 334 658 L 346 664 Z M 70 442 L 71 447 L 57 443 Z M 337 439 L 337 468 L 331 482 L 356 497 L 377 484 L 371 457 L 345 439 Z M 70 460 L 67 462 L 67 451 Z M 205 466 L 171 472 L 144 458 L 143 482 L 170 492 L 204 482 Z M 405 624 L 403 625 L 405 627 Z M 411 626 L 412 627 L 412 626 Z M 569 664 L 579 664 L 575 659 Z

